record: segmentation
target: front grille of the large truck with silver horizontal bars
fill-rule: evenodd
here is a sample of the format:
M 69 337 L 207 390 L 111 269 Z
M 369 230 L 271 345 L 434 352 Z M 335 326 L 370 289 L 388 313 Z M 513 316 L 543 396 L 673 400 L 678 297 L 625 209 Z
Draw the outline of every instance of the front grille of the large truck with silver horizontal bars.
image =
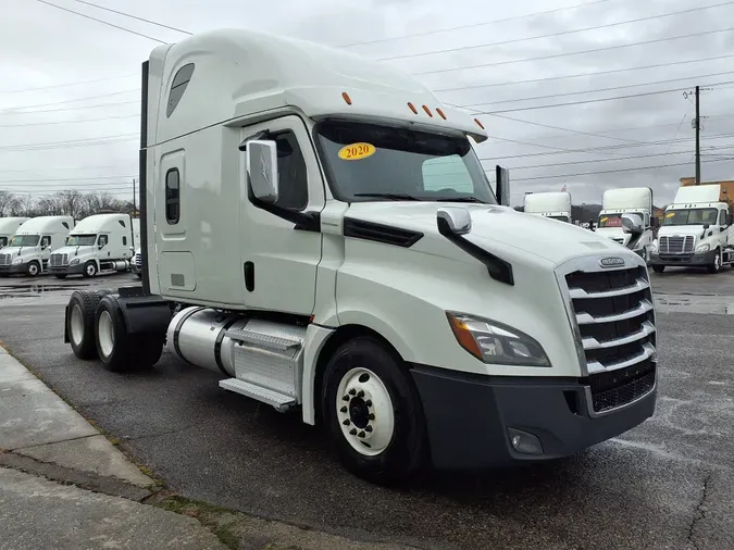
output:
M 625 258 L 625 266 L 604 268 L 600 258 L 572 263 L 559 277 L 568 291 L 595 412 L 648 393 L 657 367 L 655 309 L 646 267 Z

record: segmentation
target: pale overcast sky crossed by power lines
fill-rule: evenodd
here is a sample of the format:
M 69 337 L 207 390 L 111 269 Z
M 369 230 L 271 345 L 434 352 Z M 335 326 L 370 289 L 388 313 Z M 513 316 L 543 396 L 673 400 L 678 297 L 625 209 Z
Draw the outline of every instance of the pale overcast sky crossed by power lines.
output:
M 76 0 L 48 1 L 159 40 L 185 36 Z M 420 73 L 444 102 L 495 113 L 481 116 L 493 137 L 478 153 L 493 174 L 497 163 L 510 168 L 514 203 L 526 191 L 565 184 L 577 204 L 599 202 L 605 189 L 632 186 L 652 187 L 656 204 L 665 204 L 679 178 L 695 170 L 695 108 L 683 88 L 713 85 L 701 92 L 702 179 L 734 179 L 734 30 L 618 47 L 726 29 L 734 26 L 734 2 L 90 1 L 192 33 L 241 26 L 346 47 Z M 130 196 L 139 68 L 158 42 L 37 0 L 0 0 L 0 190 Z M 600 25 L 606 27 L 568 33 Z M 550 34 L 557 36 L 527 39 Z M 610 47 L 618 48 L 605 49 Z M 440 50 L 453 51 L 426 54 Z M 665 66 L 619 71 L 650 65 Z M 599 72 L 607 74 L 588 75 Z M 627 87 L 637 84 L 644 85 Z M 588 91 L 604 88 L 614 89 Z M 649 93 L 660 90 L 669 91 Z M 618 99 L 595 101 L 605 98 Z M 575 104 L 537 109 L 558 103 Z M 579 149 L 587 151 L 569 152 Z

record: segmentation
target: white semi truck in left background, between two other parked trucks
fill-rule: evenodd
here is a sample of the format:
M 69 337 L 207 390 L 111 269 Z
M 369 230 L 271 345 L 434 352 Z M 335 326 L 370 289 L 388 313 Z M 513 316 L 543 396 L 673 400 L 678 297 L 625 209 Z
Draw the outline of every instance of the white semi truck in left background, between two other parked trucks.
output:
M 21 225 L 0 251 L 0 275 L 35 277 L 48 271 L 51 252 L 64 246 L 74 228 L 72 216 L 32 217 Z

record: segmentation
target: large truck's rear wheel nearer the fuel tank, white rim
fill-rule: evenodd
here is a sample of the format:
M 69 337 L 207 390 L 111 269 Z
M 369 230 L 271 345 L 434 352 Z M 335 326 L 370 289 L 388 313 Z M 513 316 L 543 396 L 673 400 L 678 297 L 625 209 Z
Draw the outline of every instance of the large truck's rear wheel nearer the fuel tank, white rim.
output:
M 95 345 L 102 366 L 112 372 L 129 371 L 133 366 L 133 346 L 117 302 L 102 296 L 95 312 Z

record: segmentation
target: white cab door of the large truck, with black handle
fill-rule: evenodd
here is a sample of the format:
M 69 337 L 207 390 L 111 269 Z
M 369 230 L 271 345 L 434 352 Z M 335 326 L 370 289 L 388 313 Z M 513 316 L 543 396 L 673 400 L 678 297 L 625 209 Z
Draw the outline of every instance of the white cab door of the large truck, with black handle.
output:
M 293 212 L 321 212 L 324 179 L 303 121 L 288 115 L 247 126 L 241 140 L 262 139 L 263 132 L 268 133 L 265 139 L 277 143 L 276 204 Z M 310 315 L 315 303 L 321 233 L 296 229 L 293 221 L 256 207 L 249 198 L 245 152 L 239 165 L 242 303 L 248 309 Z

